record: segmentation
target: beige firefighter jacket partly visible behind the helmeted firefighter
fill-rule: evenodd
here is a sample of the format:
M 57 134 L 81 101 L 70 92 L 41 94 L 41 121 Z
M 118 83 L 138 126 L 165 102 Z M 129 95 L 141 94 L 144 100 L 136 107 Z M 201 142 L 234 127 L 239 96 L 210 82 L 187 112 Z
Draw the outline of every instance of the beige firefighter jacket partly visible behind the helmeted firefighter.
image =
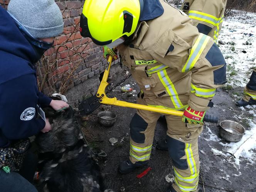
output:
M 217 43 L 227 0 L 185 0 L 181 10 L 193 20 L 199 32 Z

